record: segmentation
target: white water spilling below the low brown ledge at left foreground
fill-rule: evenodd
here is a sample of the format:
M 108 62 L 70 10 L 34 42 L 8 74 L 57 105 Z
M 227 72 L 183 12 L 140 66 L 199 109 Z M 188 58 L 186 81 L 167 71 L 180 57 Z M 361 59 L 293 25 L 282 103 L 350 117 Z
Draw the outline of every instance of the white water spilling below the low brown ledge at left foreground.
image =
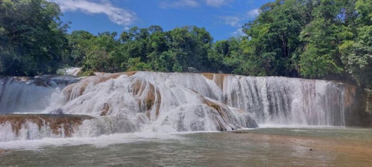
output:
M 47 122 L 47 124 L 53 124 Z M 0 124 L 0 141 L 13 141 L 13 140 L 35 140 L 45 138 L 85 138 L 97 137 L 100 135 L 109 135 L 113 133 L 129 133 L 138 130 L 134 122 L 127 119 L 120 119 L 116 117 L 101 117 L 84 120 L 78 127 L 73 126 L 73 134 L 68 136 L 63 125 L 57 129 L 58 134 L 53 133 L 53 129 L 47 124 L 38 126 L 38 124 L 31 120 L 22 124 L 18 134 L 12 129 L 12 124 L 7 122 Z

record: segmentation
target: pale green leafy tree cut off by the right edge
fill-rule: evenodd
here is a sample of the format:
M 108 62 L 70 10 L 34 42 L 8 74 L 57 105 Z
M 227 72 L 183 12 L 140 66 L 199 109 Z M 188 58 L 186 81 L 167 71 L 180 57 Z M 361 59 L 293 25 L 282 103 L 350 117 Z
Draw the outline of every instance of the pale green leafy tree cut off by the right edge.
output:
M 372 112 L 372 2 L 356 1 L 355 38 L 339 47 L 342 63 L 367 95 L 366 111 Z

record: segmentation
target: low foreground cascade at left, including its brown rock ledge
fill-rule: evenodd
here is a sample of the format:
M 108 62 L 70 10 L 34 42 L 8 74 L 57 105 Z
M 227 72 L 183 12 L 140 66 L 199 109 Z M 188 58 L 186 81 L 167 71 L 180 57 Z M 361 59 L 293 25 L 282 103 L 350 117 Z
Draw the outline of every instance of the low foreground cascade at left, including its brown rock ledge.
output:
M 0 141 L 44 138 L 96 137 L 138 129 L 132 120 L 66 114 L 0 115 Z

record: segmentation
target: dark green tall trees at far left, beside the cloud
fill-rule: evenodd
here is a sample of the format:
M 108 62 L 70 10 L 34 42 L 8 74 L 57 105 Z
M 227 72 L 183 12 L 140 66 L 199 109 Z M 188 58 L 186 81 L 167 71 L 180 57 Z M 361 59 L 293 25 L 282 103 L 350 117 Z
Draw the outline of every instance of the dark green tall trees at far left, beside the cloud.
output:
M 0 75 L 55 73 L 68 56 L 60 16 L 46 0 L 0 1 Z

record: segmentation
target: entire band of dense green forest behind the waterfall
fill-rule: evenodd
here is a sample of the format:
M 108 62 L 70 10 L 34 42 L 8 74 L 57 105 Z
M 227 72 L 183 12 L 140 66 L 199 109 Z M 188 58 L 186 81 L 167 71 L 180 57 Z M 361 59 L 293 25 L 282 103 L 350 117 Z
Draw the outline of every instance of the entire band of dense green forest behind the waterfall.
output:
M 208 71 L 338 79 L 372 96 L 372 0 L 276 0 L 221 41 L 195 26 L 67 33 L 61 16 L 46 0 L 0 1 L 0 75 Z

